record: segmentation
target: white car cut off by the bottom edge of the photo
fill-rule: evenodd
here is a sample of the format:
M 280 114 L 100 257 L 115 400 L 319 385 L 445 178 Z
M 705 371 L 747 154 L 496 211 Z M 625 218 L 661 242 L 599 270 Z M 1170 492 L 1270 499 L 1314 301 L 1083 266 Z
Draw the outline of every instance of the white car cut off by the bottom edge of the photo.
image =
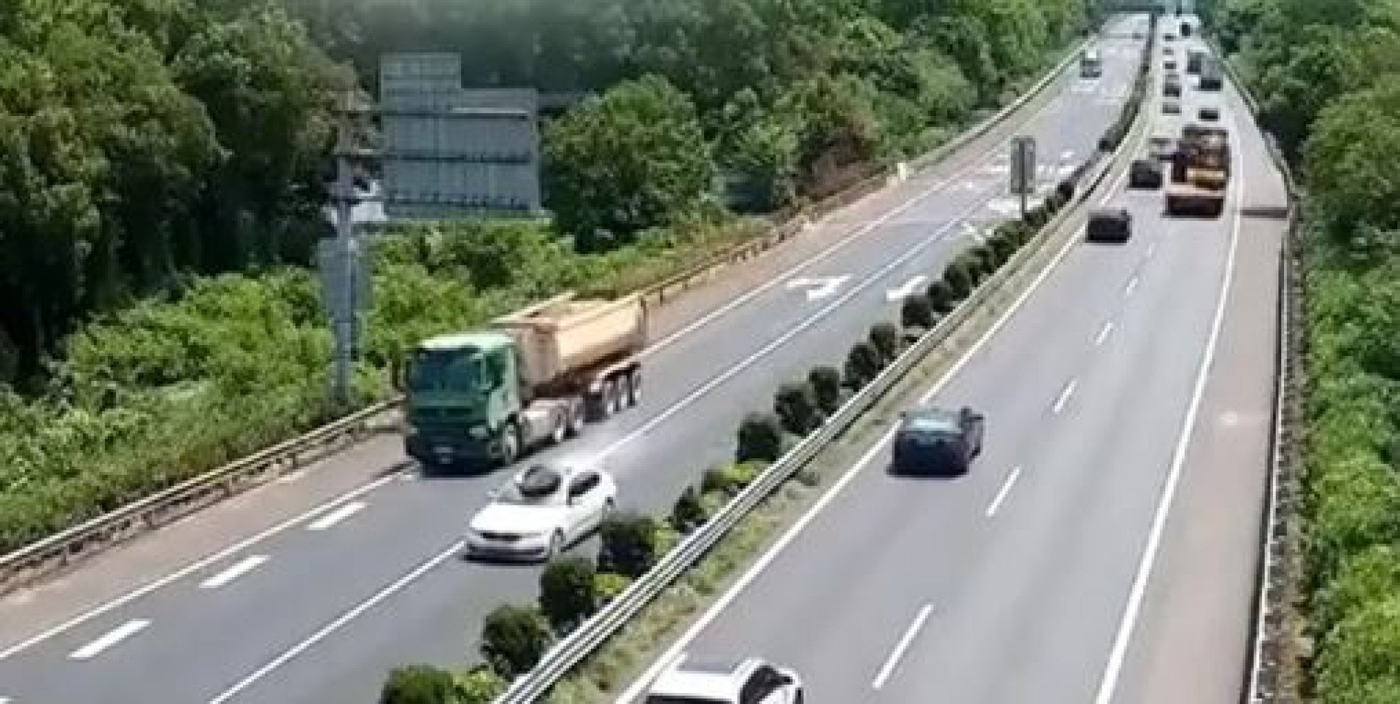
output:
M 735 663 L 679 662 L 662 672 L 643 704 L 802 704 L 797 672 L 760 658 Z

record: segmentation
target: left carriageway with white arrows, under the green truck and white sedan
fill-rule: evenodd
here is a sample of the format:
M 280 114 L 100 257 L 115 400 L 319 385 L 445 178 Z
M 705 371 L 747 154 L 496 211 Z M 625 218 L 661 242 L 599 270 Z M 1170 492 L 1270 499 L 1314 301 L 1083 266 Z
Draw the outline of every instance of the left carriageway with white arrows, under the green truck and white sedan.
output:
M 1117 115 L 1135 45 L 1105 39 L 1100 80 L 1071 67 L 1033 101 L 1022 130 L 1049 162 L 1044 188 Z M 539 459 L 601 460 L 624 505 L 666 508 L 732 453 L 745 411 L 839 362 L 895 315 L 892 290 L 937 274 L 969 224 L 1009 214 L 1005 169 L 1004 141 L 974 144 L 662 309 L 643 404 Z M 381 437 L 7 598 L 0 701 L 374 701 L 393 665 L 459 665 L 486 612 L 535 593 L 536 568 L 461 560 L 466 519 L 501 479 L 423 479 Z

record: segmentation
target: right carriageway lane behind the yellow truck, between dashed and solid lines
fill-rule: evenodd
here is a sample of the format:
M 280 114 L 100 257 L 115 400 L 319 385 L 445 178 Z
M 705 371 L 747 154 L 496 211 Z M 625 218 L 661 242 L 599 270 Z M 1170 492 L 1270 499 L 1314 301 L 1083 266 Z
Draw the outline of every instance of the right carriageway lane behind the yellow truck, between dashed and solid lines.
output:
M 1085 361 L 1064 425 L 1007 501 L 997 544 L 963 572 L 938 637 L 913 649 L 882 700 L 937 687 L 952 701 L 1092 701 L 1218 290 L 1218 246 L 1168 230 Z

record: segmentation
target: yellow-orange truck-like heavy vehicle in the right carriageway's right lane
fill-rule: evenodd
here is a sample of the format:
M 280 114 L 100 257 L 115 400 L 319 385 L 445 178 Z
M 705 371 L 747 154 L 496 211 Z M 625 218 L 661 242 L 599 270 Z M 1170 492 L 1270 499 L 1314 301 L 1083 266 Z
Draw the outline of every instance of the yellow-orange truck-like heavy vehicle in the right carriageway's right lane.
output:
M 1169 216 L 1219 217 L 1225 211 L 1225 189 L 1231 178 L 1229 132 L 1222 127 L 1187 125 L 1182 129 L 1172 175 L 1166 183 Z

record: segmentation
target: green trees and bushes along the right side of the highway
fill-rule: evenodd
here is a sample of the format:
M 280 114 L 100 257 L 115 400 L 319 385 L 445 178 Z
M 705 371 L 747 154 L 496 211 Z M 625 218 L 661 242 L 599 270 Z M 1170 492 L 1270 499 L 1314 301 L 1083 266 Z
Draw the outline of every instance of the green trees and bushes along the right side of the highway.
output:
M 1400 701 L 1400 1 L 1217 0 L 1306 218 L 1306 644 L 1287 700 Z

